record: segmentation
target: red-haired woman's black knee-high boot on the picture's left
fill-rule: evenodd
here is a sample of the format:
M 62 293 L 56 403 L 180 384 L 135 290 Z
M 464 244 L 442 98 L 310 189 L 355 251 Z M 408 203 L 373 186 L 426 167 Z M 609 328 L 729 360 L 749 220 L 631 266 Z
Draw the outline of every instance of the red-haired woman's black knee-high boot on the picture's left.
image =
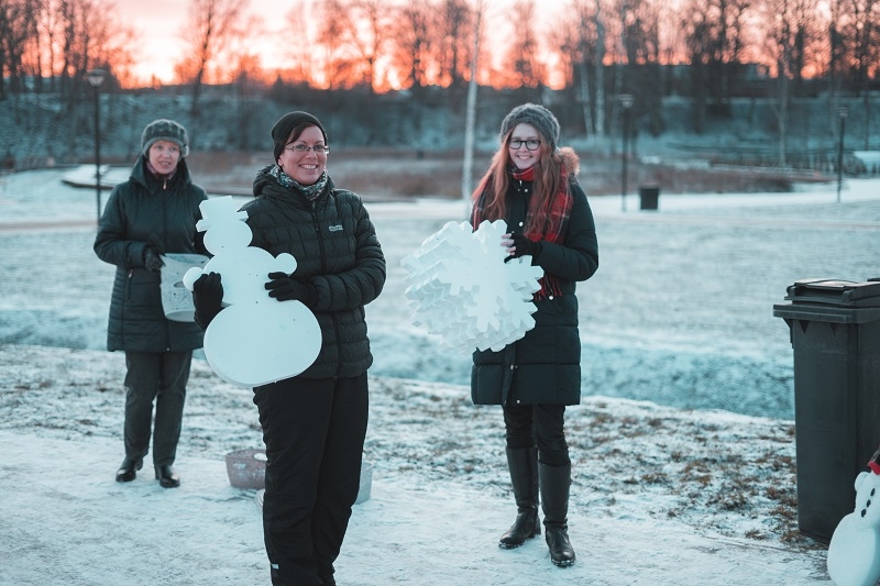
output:
M 538 519 L 538 449 L 508 447 L 507 467 L 516 499 L 516 521 L 502 535 L 499 548 L 519 548 L 527 539 L 541 534 Z

